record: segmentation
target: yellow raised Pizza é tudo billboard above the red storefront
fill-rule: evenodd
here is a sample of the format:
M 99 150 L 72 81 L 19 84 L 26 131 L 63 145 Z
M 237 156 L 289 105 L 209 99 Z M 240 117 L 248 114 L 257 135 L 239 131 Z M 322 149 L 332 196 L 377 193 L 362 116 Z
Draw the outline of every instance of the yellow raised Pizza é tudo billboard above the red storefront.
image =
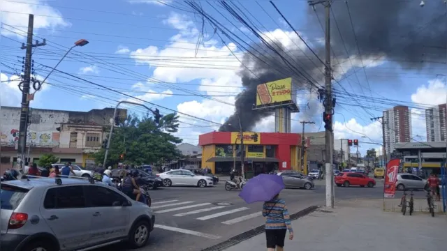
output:
M 275 103 L 296 103 L 292 78 L 279 79 L 256 86 L 256 106 Z

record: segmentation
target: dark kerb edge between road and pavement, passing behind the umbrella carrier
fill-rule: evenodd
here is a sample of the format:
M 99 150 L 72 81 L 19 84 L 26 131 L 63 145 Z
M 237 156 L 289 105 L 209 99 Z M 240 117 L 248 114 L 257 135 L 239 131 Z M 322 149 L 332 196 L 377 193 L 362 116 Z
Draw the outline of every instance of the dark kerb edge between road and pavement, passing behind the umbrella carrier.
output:
M 317 208 L 318 208 L 318 206 L 309 206 L 308 208 L 305 208 L 302 211 L 299 211 L 298 213 L 293 213 L 291 215 L 291 220 L 297 220 L 298 218 L 302 218 L 303 216 L 316 211 Z M 259 227 L 255 227 L 254 229 L 251 229 L 249 231 L 245 231 L 242 234 L 237 234 L 236 236 L 233 236 L 226 241 L 222 241 L 221 243 L 217 243 L 216 245 L 212 245 L 211 247 L 205 248 L 204 250 L 201 250 L 201 251 L 226 250 L 227 248 L 230 248 L 231 246 L 236 245 L 237 243 L 246 241 L 247 239 L 257 236 L 258 234 L 262 234 L 264 232 L 264 230 L 265 230 L 264 225 L 261 225 Z

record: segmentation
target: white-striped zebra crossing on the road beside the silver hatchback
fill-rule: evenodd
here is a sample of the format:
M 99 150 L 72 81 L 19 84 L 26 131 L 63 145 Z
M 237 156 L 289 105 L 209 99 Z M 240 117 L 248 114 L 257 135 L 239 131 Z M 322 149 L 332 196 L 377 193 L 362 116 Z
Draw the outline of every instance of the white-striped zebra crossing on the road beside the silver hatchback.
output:
M 234 206 L 231 204 L 212 204 L 210 202 L 196 203 L 195 201 L 179 201 L 177 199 L 167 201 L 154 201 L 151 208 L 156 214 L 167 214 L 174 217 L 189 216 L 196 220 L 219 220 L 223 215 L 237 215 L 238 217 L 228 220 L 227 218 L 221 222 L 223 225 L 235 225 L 245 220 L 250 220 L 257 217 L 262 217 L 262 212 L 249 212 L 247 206 Z M 241 215 L 242 216 L 239 216 Z

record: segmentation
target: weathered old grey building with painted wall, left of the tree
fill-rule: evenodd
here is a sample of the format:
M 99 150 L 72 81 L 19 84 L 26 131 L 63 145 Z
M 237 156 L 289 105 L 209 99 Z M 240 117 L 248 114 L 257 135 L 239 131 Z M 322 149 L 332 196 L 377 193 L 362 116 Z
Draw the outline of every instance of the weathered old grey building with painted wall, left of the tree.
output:
M 92 165 L 91 153 L 101 148 L 104 131 L 110 126 L 113 108 L 71 112 L 53 109 L 32 109 L 27 135 L 27 161 L 36 162 L 43 153 L 53 153 L 60 162 Z M 17 161 L 17 141 L 20 107 L 1 107 L 0 167 L 7 168 Z M 119 118 L 127 117 L 119 109 Z

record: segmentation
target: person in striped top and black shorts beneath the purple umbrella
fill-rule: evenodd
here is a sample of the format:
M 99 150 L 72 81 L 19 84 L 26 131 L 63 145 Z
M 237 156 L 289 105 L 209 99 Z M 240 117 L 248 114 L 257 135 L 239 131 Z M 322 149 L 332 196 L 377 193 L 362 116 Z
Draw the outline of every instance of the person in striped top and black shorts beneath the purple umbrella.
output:
M 265 238 L 267 250 L 284 251 L 284 241 L 288 230 L 288 238 L 293 239 L 293 229 L 291 218 L 288 215 L 286 202 L 275 195 L 270 201 L 265 201 L 263 205 L 263 216 L 265 220 Z

